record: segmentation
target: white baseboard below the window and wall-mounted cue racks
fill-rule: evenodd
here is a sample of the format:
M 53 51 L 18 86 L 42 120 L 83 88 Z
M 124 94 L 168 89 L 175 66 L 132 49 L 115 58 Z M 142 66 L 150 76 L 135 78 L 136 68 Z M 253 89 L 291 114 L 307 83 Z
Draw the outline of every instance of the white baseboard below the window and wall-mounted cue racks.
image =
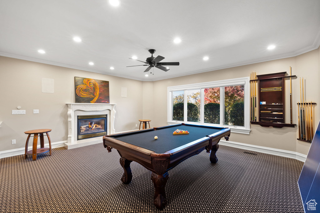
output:
M 302 162 L 305 162 L 307 158 L 307 155 L 301 154 L 299 152 L 293 152 L 293 151 L 270 148 L 270 147 L 262 147 L 262 146 L 256 146 L 256 145 L 245 144 L 245 143 L 238 143 L 234 141 L 220 140 L 219 144 L 224 146 L 229 146 L 229 147 L 241 148 L 245 150 L 270 154 L 270 155 L 293 158 Z

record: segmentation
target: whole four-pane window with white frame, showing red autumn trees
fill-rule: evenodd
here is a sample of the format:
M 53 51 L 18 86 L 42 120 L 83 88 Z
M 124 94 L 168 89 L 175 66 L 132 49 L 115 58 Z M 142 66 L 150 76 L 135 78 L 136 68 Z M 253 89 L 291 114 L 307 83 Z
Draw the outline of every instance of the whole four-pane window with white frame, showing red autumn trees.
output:
M 168 87 L 168 124 L 225 126 L 249 134 L 248 87 L 248 77 Z

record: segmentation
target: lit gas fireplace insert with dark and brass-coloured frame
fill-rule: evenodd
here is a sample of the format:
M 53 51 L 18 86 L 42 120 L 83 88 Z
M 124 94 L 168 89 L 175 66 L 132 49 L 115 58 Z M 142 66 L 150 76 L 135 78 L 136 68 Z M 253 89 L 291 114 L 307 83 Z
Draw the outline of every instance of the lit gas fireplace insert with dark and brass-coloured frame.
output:
M 78 115 L 77 140 L 107 134 L 107 115 Z

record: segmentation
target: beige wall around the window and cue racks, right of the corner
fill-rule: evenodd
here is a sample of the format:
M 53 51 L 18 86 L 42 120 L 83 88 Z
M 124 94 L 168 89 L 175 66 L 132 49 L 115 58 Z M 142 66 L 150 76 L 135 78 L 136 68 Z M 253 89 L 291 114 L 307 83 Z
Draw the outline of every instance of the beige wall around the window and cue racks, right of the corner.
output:
M 297 102 L 300 101 L 300 83 L 299 78 L 304 77 L 307 82 L 306 97 L 307 101 L 319 103 L 319 49 L 310 51 L 297 57 L 279 59 L 274 61 L 262 62 L 252 65 L 238 66 L 223 70 L 212 72 L 204 72 L 194 75 L 182 76 L 179 78 L 172 78 L 166 80 L 159 80 L 153 83 L 153 101 L 154 113 L 153 119 L 155 126 L 163 126 L 167 123 L 167 87 L 193 84 L 215 80 L 225 80 L 230 78 L 240 78 L 250 76 L 250 73 L 257 71 L 258 75 L 275 73 L 275 72 L 288 72 L 290 74 L 290 66 L 292 67 L 292 75 L 298 78 L 292 80 L 292 110 L 293 110 L 293 123 L 298 123 L 297 118 Z M 290 80 L 286 81 L 286 123 L 290 123 Z M 317 125 L 319 122 L 319 113 L 315 107 L 314 123 Z M 310 143 L 296 140 L 298 137 L 297 127 L 262 127 L 259 125 L 251 125 L 250 135 L 232 133 L 230 141 L 240 143 L 278 148 L 289 151 L 297 151 L 302 154 L 307 154 Z

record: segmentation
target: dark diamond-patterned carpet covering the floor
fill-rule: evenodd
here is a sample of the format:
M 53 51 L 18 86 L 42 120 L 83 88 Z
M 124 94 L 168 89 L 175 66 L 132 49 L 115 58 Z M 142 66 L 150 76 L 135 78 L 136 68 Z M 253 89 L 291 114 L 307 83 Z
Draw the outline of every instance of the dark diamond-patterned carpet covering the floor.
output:
M 220 146 L 169 171 L 167 206 L 157 210 L 151 172 L 132 162 L 124 185 L 119 154 L 102 144 L 52 149 L 52 156 L 0 160 L 0 212 L 303 212 L 297 181 L 303 163 Z M 248 151 L 251 152 L 251 151 Z

